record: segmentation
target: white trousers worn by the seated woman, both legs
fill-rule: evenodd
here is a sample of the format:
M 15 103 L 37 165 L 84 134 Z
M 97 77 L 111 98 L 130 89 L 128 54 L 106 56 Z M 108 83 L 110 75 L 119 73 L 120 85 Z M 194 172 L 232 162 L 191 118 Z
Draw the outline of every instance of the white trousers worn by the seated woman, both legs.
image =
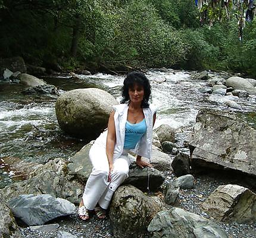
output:
M 129 176 L 128 151 L 125 150 L 119 158 L 114 159 L 111 182 L 108 182 L 109 166 L 105 148 L 94 143 L 90 148 L 89 157 L 93 169 L 83 192 L 83 204 L 88 210 L 93 210 L 97 203 L 107 209 L 115 190 Z

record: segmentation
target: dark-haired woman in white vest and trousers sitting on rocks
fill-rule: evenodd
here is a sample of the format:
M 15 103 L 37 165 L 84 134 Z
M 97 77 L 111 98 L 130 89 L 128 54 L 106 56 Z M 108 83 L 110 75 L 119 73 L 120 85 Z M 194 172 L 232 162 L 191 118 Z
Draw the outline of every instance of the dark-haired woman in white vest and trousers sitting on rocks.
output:
M 142 156 L 151 158 L 152 128 L 156 113 L 148 100 L 151 86 L 141 72 L 131 72 L 124 80 L 121 104 L 108 120 L 108 129 L 103 132 L 90 148 L 89 157 L 93 169 L 85 186 L 78 215 L 89 219 L 89 210 L 98 218 L 105 218 L 115 190 L 128 177 L 130 160 L 128 151 L 138 154 L 139 167 L 151 166 Z

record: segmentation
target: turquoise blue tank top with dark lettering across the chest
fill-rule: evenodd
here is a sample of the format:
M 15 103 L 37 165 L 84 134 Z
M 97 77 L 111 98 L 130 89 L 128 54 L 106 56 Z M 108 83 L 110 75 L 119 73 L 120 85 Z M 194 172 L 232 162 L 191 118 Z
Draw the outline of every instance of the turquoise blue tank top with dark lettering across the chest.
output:
M 146 132 L 145 118 L 136 124 L 126 121 L 126 132 L 124 135 L 124 149 L 134 149 L 138 141 Z

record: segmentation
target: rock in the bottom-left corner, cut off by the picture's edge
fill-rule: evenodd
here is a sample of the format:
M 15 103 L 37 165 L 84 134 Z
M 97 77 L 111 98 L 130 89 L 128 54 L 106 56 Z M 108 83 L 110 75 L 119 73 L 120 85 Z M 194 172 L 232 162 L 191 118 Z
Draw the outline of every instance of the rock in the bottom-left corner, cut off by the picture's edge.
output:
M 21 238 L 13 214 L 2 199 L 0 202 L 0 238 Z

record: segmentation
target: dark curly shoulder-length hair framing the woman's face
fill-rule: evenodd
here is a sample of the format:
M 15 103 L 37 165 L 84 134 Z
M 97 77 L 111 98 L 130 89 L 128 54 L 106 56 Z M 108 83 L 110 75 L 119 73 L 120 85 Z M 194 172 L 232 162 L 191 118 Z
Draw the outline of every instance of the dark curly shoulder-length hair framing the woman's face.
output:
M 121 103 L 128 103 L 130 101 L 129 88 L 133 88 L 135 84 L 138 84 L 144 89 L 144 97 L 141 103 L 141 107 L 149 107 L 149 99 L 151 98 L 151 85 L 148 78 L 142 72 L 130 72 L 124 79 L 124 85 L 122 87 Z

